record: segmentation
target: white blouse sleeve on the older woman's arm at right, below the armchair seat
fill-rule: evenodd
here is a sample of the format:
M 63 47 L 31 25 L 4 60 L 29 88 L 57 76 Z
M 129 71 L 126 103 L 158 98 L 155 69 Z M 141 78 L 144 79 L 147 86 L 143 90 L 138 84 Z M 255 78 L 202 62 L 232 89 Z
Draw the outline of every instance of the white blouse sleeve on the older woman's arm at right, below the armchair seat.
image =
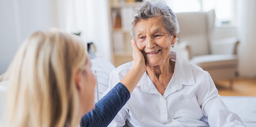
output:
M 199 98 L 204 116 L 208 119 L 210 127 L 246 127 L 238 114 L 228 110 L 212 81 L 210 74 L 205 82 L 203 95 Z

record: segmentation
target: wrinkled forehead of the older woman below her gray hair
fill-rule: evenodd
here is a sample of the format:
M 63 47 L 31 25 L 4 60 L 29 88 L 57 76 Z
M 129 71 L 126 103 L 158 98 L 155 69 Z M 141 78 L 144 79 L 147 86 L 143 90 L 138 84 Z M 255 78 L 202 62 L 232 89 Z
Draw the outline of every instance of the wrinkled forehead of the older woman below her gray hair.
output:
M 164 22 L 161 17 L 152 17 L 148 19 L 140 19 L 135 25 L 135 34 L 137 32 L 165 31 Z M 167 30 L 166 30 L 167 31 Z

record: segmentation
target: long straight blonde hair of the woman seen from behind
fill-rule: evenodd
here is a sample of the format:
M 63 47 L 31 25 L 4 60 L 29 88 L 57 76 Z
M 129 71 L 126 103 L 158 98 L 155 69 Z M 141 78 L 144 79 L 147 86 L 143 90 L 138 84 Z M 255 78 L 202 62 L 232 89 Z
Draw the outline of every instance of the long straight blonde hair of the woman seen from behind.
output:
M 86 57 L 76 35 L 53 29 L 26 39 L 7 71 L 5 126 L 77 126 L 75 71 L 85 65 Z

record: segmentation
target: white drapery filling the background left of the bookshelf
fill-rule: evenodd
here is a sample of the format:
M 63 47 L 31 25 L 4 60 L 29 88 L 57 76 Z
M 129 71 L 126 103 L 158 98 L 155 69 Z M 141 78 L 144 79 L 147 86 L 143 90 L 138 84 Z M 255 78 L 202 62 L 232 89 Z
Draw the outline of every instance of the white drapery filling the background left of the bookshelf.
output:
M 0 0 L 0 75 L 25 38 L 50 27 L 81 31 L 85 44 L 111 61 L 108 11 L 108 0 Z

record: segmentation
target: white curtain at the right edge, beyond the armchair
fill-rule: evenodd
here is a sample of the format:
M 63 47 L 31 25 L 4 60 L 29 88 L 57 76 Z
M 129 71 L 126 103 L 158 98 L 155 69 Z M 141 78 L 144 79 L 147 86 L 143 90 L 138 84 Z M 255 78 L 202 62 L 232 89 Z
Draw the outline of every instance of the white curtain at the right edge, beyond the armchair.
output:
M 239 0 L 239 73 L 256 77 L 256 0 Z

